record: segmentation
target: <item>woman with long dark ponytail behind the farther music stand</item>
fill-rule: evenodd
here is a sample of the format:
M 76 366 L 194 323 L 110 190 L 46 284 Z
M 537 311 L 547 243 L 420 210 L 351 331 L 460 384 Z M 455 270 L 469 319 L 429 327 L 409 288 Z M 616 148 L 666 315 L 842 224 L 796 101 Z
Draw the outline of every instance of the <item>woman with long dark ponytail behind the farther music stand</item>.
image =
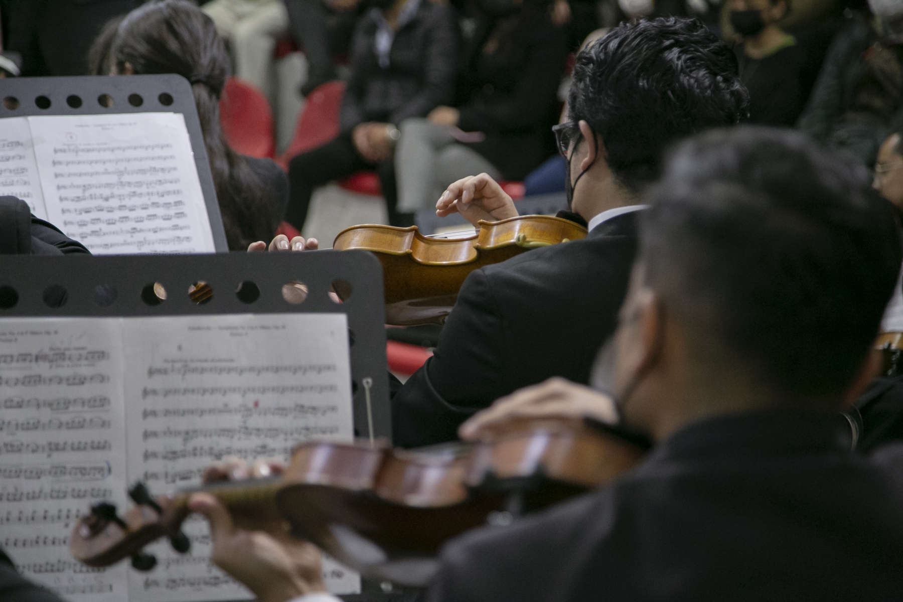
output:
M 103 48 L 107 46 L 107 53 Z M 176 73 L 191 82 L 204 146 L 230 250 L 272 238 L 288 199 L 284 172 L 269 159 L 236 153 L 219 125 L 219 96 L 229 73 L 213 21 L 185 0 L 143 5 L 105 28 L 90 56 L 112 75 Z

